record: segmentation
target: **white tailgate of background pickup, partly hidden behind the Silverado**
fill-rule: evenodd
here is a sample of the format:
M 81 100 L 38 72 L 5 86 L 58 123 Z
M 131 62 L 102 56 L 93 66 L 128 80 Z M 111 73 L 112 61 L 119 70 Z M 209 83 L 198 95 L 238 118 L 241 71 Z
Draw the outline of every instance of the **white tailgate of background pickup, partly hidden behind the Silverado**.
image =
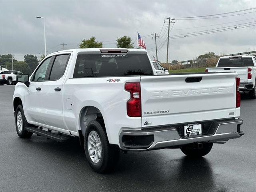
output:
M 214 67 L 208 68 L 208 72 L 237 72 L 241 83 L 247 83 L 248 67 Z

